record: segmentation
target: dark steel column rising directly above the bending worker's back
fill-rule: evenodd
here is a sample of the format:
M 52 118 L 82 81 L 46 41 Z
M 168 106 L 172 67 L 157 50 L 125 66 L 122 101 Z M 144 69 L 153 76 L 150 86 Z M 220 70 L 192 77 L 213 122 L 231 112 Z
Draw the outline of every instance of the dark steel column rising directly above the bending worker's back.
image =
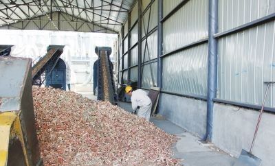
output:
M 142 0 L 137 2 L 138 19 L 137 19 L 137 88 L 142 87 Z

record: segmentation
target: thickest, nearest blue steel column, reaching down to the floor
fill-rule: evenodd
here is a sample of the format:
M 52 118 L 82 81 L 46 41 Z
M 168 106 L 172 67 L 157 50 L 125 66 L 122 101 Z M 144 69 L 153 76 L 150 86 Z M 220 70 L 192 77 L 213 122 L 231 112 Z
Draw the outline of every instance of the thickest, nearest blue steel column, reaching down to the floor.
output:
M 208 92 L 207 92 L 207 125 L 206 141 L 212 141 L 213 130 L 213 106 L 212 99 L 217 96 L 217 38 L 214 34 L 218 32 L 218 0 L 209 0 L 208 14 Z

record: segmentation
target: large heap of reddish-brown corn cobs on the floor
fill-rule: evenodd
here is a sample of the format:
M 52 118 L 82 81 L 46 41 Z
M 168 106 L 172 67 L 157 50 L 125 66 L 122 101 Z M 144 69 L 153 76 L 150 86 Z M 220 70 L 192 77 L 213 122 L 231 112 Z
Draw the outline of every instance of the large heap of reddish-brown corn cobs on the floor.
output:
M 175 136 L 118 106 L 54 88 L 33 97 L 44 165 L 178 165 Z

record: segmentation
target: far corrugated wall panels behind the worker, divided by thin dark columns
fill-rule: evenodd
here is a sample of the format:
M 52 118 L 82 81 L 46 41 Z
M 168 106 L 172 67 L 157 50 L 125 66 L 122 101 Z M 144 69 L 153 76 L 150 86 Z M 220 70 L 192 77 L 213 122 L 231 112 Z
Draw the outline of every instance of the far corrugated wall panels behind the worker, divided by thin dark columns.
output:
M 127 70 L 129 69 L 130 79 L 137 81 L 137 60 L 142 56 L 142 87 L 150 88 L 157 86 L 157 1 L 142 0 L 142 53 L 138 54 L 138 3 L 135 3 L 129 16 L 131 16 L 131 27 L 128 27 L 128 21 L 124 23 L 123 35 L 123 64 L 122 79 L 127 80 Z M 149 19 L 150 17 L 150 19 Z M 148 27 L 148 29 L 147 29 Z M 130 32 L 130 33 L 128 33 Z M 122 32 L 121 32 L 122 34 Z M 130 34 L 130 35 L 129 35 Z M 145 36 L 148 34 L 148 36 Z M 128 38 L 130 38 L 128 50 Z M 147 44 L 146 44 L 147 43 Z M 144 53 L 144 50 L 145 53 Z M 129 51 L 129 52 L 127 52 Z M 127 58 L 126 58 L 127 57 Z M 130 59 L 129 59 L 130 58 Z M 128 60 L 130 62 L 128 66 Z M 122 62 L 122 59 L 121 59 Z M 144 66 L 144 67 L 143 67 Z M 153 78 L 152 78 L 153 76 Z

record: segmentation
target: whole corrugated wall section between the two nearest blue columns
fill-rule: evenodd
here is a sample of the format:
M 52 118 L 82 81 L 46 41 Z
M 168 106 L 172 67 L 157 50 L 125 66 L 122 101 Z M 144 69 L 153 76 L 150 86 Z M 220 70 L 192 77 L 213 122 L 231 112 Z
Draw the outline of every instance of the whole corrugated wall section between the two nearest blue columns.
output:
M 177 3 L 179 1 L 164 5 L 164 11 L 170 12 Z M 188 1 L 164 22 L 163 28 L 164 54 L 207 38 L 208 1 Z M 207 54 L 208 44 L 206 43 L 164 57 L 162 89 L 183 95 L 206 96 Z

